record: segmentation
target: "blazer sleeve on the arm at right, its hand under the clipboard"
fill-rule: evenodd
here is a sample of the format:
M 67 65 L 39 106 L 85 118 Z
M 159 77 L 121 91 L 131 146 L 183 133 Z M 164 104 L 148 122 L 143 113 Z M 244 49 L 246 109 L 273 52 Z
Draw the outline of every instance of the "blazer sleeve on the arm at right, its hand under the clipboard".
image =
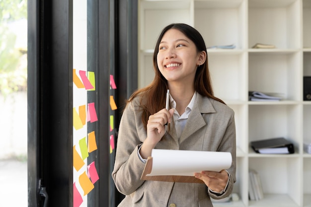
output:
M 233 191 L 233 184 L 236 181 L 235 171 L 236 171 L 236 135 L 235 135 L 235 122 L 234 122 L 234 111 L 229 110 L 230 116 L 228 119 L 228 124 L 226 125 L 226 131 L 224 137 L 219 145 L 218 151 L 228 151 L 232 154 L 232 165 L 227 172 L 230 174 L 229 183 L 225 192 L 221 195 L 216 195 L 208 190 L 208 194 L 213 199 L 223 199 L 228 197 Z

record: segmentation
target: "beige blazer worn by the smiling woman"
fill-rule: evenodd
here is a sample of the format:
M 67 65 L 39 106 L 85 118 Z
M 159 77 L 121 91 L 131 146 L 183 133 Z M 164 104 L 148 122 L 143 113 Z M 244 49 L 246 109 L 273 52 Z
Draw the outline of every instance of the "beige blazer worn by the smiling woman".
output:
M 232 193 L 235 182 L 234 112 L 225 104 L 197 94 L 187 124 L 177 138 L 171 122 L 169 132 L 158 142 L 158 149 L 228 151 L 233 162 L 226 192 L 216 196 L 205 184 L 144 181 L 145 163 L 138 149 L 147 138 L 139 110 L 139 99 L 128 104 L 121 118 L 112 177 L 116 188 L 126 195 L 119 207 L 212 207 L 210 197 L 221 199 Z

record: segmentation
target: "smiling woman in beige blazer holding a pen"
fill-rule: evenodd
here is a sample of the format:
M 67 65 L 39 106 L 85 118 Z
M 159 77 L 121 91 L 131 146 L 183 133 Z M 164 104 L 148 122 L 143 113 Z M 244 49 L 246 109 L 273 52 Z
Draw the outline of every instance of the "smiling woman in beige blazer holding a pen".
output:
M 234 112 L 214 96 L 206 60 L 204 40 L 193 27 L 176 23 L 161 31 L 153 55 L 155 78 L 132 94 L 121 118 L 112 172 L 126 195 L 119 207 L 212 207 L 211 198 L 232 193 Z M 170 101 L 164 108 L 167 89 Z M 141 180 L 154 149 L 229 152 L 232 165 L 219 172 L 192 172 L 201 183 Z

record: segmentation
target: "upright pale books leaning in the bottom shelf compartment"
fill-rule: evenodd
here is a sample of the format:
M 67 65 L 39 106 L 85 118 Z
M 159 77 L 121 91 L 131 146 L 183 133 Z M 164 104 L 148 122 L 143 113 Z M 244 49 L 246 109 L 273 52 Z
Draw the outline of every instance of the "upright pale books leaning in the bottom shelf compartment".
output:
M 263 199 L 263 190 L 259 174 L 255 170 L 249 170 L 248 176 L 249 200 L 259 201 Z

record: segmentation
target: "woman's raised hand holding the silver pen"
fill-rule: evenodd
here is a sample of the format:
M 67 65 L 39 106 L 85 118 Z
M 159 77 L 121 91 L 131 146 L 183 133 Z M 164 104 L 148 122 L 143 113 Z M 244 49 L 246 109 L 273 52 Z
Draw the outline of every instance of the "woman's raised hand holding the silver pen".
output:
M 147 138 L 140 149 L 142 158 L 147 159 L 151 156 L 152 149 L 155 148 L 157 142 L 159 142 L 164 136 L 165 125 L 166 123 L 171 122 L 173 113 L 174 109 L 168 111 L 167 109 L 162 109 L 149 117 L 147 124 Z

